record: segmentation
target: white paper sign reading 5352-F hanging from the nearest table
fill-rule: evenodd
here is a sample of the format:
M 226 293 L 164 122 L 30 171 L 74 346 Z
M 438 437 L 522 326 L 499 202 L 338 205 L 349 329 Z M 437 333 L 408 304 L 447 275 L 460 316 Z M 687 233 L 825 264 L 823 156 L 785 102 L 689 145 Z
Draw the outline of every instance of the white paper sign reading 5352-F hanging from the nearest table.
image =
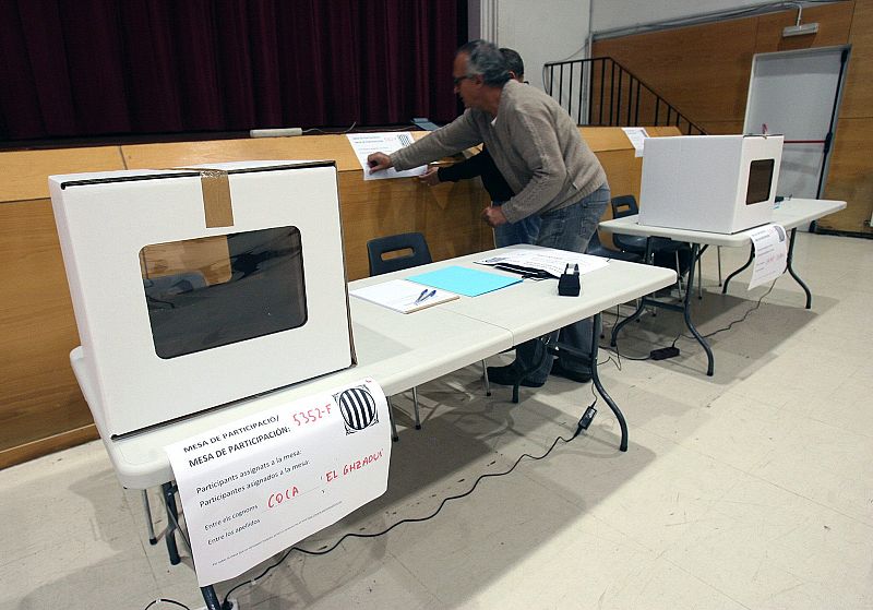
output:
M 364 379 L 166 447 L 200 586 L 234 578 L 387 489 L 387 402 Z

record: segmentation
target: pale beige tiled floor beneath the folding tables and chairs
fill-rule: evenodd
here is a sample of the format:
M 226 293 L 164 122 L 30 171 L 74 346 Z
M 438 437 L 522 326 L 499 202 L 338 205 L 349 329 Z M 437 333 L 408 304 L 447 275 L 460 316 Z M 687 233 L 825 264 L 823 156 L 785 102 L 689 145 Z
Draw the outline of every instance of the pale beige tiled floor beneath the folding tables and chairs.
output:
M 722 259 L 727 273 L 745 253 Z M 704 333 L 766 291 L 748 292 L 743 275 L 721 296 L 715 261 L 705 256 L 694 314 Z M 630 423 L 626 454 L 599 402 L 588 432 L 546 459 L 483 480 L 428 522 L 292 553 L 235 593 L 241 608 L 873 608 L 873 242 L 801 235 L 796 266 L 813 309 L 780 278 L 711 338 L 714 378 L 684 338 L 677 359 L 601 366 Z M 659 312 L 619 345 L 638 357 L 680 331 Z M 398 416 L 388 492 L 302 545 L 428 515 L 572 433 L 593 399 L 558 379 L 519 405 L 505 388 L 486 398 L 478 370 L 420 387 L 424 428 Z M 140 495 L 120 489 L 99 443 L 0 471 L 0 608 L 203 605 L 190 561 L 170 566 L 148 545 Z

